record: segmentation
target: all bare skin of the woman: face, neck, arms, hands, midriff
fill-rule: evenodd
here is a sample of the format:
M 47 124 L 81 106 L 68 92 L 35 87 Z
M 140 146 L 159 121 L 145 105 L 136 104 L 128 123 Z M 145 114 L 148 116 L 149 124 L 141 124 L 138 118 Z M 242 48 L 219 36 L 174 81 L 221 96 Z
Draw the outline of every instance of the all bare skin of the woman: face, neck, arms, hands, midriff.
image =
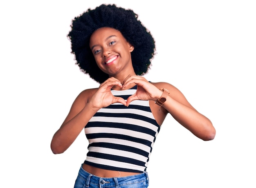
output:
M 97 65 L 110 78 L 99 88 L 84 90 L 76 97 L 66 119 L 52 138 L 51 149 L 54 154 L 65 152 L 100 108 L 112 103 L 128 106 L 134 100 L 148 100 L 159 125 L 162 125 L 166 115 L 170 113 L 196 137 L 204 141 L 214 139 L 216 130 L 211 121 L 195 110 L 180 90 L 166 82 L 152 83 L 142 76 L 136 76 L 131 60 L 134 47 L 118 30 L 109 27 L 97 29 L 90 38 L 90 48 Z M 127 90 L 135 85 L 137 85 L 137 92 L 127 101 L 113 96 L 110 91 L 111 89 Z M 155 104 L 163 94 L 160 88 L 166 88 L 170 92 L 162 106 Z M 137 174 L 103 170 L 85 164 L 83 169 L 99 177 L 123 177 Z

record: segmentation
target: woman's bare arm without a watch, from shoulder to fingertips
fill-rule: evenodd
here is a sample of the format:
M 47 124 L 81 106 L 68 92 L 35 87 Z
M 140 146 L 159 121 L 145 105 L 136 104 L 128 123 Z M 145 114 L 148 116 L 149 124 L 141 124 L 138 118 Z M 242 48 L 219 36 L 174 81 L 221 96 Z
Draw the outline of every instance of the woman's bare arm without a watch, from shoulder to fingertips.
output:
M 65 121 L 52 138 L 51 149 L 54 154 L 65 152 L 100 108 L 117 102 L 126 105 L 123 98 L 115 97 L 110 92 L 114 85 L 122 87 L 116 78 L 109 78 L 98 89 L 85 90 L 76 97 Z

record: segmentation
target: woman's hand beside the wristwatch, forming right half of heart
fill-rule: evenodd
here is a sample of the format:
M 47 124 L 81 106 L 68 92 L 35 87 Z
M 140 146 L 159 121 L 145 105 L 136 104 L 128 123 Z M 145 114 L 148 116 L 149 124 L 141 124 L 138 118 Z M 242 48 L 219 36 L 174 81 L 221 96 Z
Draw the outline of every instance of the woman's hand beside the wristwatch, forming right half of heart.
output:
M 162 91 L 160 91 L 155 85 L 148 82 L 144 77 L 129 75 L 123 82 L 123 89 L 125 89 L 126 85 L 135 83 L 137 85 L 137 91 L 135 94 L 128 97 L 126 101 L 126 106 L 130 104 L 130 102 L 134 100 L 153 100 L 156 101 L 162 95 Z

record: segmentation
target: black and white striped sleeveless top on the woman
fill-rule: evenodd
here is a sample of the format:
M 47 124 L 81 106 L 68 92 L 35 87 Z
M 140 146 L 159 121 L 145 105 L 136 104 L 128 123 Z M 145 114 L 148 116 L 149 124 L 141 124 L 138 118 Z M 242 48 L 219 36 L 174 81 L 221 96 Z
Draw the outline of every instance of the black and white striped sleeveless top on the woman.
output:
M 136 92 L 111 90 L 125 100 Z M 106 170 L 145 172 L 160 126 L 149 101 L 135 100 L 128 107 L 114 103 L 101 108 L 85 125 L 88 153 L 85 164 Z

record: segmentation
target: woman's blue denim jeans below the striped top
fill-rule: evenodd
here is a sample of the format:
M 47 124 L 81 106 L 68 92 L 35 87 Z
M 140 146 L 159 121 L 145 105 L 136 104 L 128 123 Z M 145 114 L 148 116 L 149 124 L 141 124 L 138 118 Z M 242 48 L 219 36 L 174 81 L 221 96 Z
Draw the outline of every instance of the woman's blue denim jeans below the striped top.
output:
M 102 178 L 94 176 L 85 170 L 82 166 L 79 170 L 74 188 L 147 188 L 148 173 L 126 176 Z

